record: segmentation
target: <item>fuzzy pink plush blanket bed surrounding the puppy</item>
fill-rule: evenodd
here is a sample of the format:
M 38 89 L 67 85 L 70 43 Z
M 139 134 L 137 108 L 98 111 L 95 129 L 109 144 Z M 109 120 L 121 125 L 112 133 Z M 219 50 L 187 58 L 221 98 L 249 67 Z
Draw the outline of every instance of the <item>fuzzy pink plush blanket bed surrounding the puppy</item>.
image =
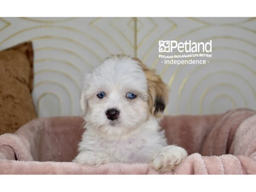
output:
M 161 174 L 148 164 L 70 162 L 77 154 L 83 119 L 35 119 L 0 136 L 0 174 Z M 164 174 L 256 174 L 256 111 L 236 109 L 207 116 L 165 116 L 169 144 L 189 156 Z

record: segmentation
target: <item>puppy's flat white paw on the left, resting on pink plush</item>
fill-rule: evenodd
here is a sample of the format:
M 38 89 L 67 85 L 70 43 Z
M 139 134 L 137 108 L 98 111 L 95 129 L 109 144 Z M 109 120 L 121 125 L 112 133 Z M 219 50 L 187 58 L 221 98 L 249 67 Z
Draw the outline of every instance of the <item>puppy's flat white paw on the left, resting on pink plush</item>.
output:
M 100 166 L 105 163 L 110 163 L 110 161 L 108 154 L 95 151 L 81 151 L 73 160 L 73 162 L 90 166 Z

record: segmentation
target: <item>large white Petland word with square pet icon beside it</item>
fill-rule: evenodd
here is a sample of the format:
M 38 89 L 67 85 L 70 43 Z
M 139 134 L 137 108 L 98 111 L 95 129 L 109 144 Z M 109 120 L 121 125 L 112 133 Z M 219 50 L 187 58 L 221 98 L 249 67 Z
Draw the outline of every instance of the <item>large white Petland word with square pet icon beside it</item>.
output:
M 207 43 L 185 41 L 178 43 L 177 41 L 159 41 L 159 52 L 212 52 L 212 40 Z

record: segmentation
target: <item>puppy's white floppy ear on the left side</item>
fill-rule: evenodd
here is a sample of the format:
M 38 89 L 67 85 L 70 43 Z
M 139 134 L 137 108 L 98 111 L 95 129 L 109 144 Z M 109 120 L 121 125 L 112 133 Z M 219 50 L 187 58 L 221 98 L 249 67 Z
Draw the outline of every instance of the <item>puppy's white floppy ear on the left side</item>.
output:
M 86 74 L 84 76 L 83 80 L 83 87 L 81 89 L 81 96 L 80 96 L 80 106 L 82 110 L 82 116 L 84 116 L 87 113 L 87 108 L 88 108 L 88 101 L 87 101 L 87 94 L 86 91 L 89 87 L 89 79 L 90 79 L 90 74 Z

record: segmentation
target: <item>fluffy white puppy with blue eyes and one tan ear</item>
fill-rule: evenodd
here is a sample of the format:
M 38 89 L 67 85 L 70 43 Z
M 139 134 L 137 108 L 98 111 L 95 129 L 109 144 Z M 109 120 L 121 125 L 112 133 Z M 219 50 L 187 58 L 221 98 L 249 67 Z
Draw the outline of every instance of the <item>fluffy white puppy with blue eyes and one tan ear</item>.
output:
M 84 79 L 81 109 L 85 120 L 74 162 L 150 163 L 168 171 L 186 156 L 168 145 L 159 121 L 168 102 L 168 87 L 139 59 L 112 55 Z

